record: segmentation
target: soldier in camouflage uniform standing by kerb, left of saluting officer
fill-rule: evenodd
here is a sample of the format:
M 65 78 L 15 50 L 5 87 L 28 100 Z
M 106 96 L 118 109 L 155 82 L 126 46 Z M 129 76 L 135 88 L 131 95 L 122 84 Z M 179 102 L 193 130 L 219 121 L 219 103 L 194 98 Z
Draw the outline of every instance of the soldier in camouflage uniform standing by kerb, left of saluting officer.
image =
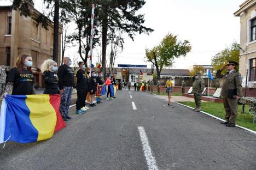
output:
M 196 108 L 194 111 L 199 112 L 201 111 L 201 100 L 202 100 L 202 92 L 205 88 L 205 81 L 201 78 L 201 73 L 196 72 L 195 74 L 195 81 L 193 82 L 193 90 L 192 93 L 194 94 Z

